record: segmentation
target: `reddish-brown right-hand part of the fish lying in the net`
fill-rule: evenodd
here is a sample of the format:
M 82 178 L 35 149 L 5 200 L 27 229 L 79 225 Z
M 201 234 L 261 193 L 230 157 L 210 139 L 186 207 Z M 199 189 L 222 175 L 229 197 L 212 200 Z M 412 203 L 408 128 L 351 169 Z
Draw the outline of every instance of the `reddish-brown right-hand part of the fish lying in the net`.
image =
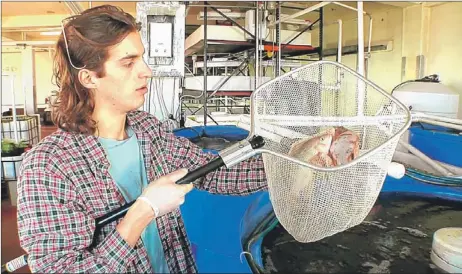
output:
M 344 127 L 336 128 L 329 155 L 334 166 L 353 161 L 359 156 L 359 135 Z

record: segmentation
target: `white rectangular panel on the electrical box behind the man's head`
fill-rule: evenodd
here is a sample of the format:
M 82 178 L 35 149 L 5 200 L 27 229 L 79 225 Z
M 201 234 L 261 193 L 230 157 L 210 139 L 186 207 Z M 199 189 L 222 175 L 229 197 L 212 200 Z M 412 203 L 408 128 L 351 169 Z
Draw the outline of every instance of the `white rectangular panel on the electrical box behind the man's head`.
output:
M 149 23 L 149 57 L 172 57 L 171 23 Z

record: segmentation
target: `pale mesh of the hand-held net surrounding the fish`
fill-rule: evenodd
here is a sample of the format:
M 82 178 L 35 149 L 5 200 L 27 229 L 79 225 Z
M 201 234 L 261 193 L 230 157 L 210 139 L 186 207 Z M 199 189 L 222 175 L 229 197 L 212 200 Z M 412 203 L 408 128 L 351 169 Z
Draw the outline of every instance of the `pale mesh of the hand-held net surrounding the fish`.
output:
M 275 214 L 300 242 L 320 240 L 364 220 L 409 121 L 407 110 L 380 88 L 329 61 L 262 85 L 253 94 L 252 116 L 254 132 L 265 133 L 265 148 L 286 156 L 301 137 L 328 127 L 343 126 L 359 136 L 356 163 L 336 171 L 263 154 Z

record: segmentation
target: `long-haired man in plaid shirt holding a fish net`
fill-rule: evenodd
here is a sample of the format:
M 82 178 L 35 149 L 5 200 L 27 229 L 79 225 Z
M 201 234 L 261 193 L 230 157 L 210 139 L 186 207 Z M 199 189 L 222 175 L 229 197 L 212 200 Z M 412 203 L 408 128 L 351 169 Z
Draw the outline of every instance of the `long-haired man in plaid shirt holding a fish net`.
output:
M 138 31 L 112 6 L 63 25 L 54 72 L 59 129 L 25 155 L 18 185 L 19 237 L 33 272 L 197 271 L 179 211 L 192 184 L 175 182 L 215 156 L 137 111 L 151 77 Z M 194 187 L 266 189 L 263 162 L 221 168 Z M 95 219 L 130 201 L 125 217 L 93 240 Z

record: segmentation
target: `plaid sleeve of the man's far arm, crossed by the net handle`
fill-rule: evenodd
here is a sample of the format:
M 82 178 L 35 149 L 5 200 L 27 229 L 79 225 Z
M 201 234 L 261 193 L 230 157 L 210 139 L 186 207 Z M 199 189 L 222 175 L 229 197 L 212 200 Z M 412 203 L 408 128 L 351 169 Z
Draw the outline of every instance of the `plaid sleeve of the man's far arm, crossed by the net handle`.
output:
M 206 165 L 217 156 L 204 152 L 200 147 L 183 137 L 177 137 L 159 127 L 158 132 L 163 151 L 173 172 L 180 168 L 189 171 Z M 231 167 L 221 167 L 195 182 L 195 187 L 210 193 L 247 195 L 267 189 L 266 174 L 261 156 L 251 157 Z

